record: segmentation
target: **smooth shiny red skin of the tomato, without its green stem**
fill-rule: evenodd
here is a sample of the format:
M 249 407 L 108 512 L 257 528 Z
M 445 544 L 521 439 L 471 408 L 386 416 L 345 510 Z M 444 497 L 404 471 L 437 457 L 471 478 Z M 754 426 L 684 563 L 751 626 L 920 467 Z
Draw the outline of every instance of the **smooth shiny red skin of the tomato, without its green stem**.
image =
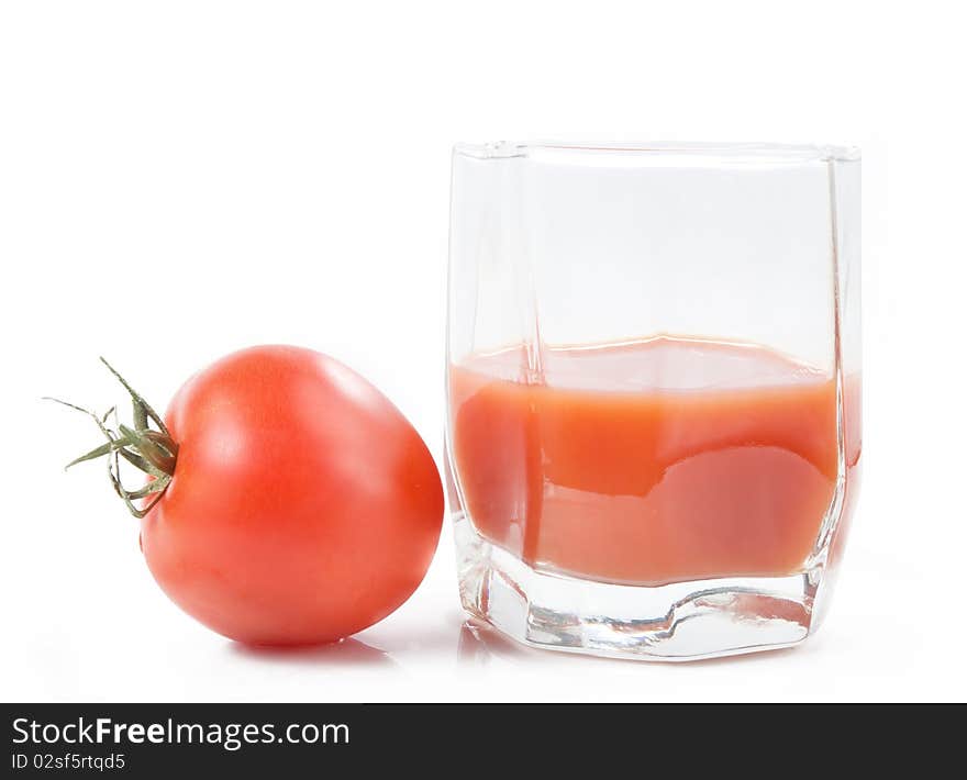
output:
M 299 347 L 229 355 L 165 423 L 175 476 L 142 521 L 181 609 L 253 645 L 349 636 L 402 604 L 436 549 L 443 489 L 416 431 L 352 369 Z

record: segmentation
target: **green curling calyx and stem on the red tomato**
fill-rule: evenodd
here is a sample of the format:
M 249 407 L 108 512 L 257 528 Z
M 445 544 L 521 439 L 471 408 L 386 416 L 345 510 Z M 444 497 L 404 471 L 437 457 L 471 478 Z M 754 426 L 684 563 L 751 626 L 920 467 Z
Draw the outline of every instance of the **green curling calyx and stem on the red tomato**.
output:
M 131 395 L 134 406 L 134 427 L 124 425 L 118 420 L 116 406 L 111 406 L 104 414 L 97 414 L 89 409 L 78 406 L 57 398 L 47 398 L 78 412 L 84 412 L 97 423 L 107 443 L 95 447 L 78 458 L 71 460 L 65 469 L 84 463 L 96 460 L 107 456 L 108 476 L 114 492 L 121 497 L 127 510 L 135 517 L 144 517 L 152 508 L 162 500 L 162 495 L 175 476 L 175 465 L 178 460 L 178 443 L 171 438 L 171 434 L 162 420 L 162 415 L 152 409 L 151 404 L 137 393 L 110 363 L 101 358 L 108 370 L 114 375 L 118 381 Z M 113 424 L 109 424 L 113 421 Z M 152 427 L 152 423 L 157 430 Z M 148 476 L 148 481 L 141 488 L 127 490 L 121 481 L 121 459 L 124 459 L 140 471 Z M 152 498 L 147 504 L 138 508 L 135 501 Z

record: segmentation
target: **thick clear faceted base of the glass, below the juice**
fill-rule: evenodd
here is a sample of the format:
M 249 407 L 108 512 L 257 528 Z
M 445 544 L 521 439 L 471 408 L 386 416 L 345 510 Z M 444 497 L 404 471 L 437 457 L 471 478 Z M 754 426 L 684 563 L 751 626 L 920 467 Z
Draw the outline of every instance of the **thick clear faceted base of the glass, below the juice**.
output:
M 518 642 L 615 658 L 682 661 L 791 647 L 815 631 L 823 568 L 622 586 L 537 571 L 454 517 L 464 609 Z

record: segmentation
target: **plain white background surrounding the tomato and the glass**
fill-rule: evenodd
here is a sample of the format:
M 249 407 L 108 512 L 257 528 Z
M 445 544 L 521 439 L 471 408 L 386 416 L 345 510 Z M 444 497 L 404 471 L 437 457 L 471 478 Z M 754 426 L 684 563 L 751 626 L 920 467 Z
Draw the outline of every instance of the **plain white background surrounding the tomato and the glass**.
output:
M 967 698 L 964 25 L 956 3 L 4 2 L 0 698 Z M 154 584 L 96 443 L 38 399 L 163 406 L 253 343 L 330 353 L 442 453 L 449 147 L 530 137 L 864 152 L 865 473 L 827 623 L 692 665 L 462 627 L 449 530 L 396 614 L 247 650 Z

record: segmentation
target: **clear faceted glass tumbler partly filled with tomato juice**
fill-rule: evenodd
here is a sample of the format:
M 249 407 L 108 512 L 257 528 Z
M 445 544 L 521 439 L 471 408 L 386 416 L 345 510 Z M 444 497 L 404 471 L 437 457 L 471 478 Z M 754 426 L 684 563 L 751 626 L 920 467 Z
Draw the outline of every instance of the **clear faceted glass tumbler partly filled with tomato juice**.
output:
M 816 628 L 860 453 L 856 149 L 458 145 L 448 319 L 468 612 L 668 660 Z

